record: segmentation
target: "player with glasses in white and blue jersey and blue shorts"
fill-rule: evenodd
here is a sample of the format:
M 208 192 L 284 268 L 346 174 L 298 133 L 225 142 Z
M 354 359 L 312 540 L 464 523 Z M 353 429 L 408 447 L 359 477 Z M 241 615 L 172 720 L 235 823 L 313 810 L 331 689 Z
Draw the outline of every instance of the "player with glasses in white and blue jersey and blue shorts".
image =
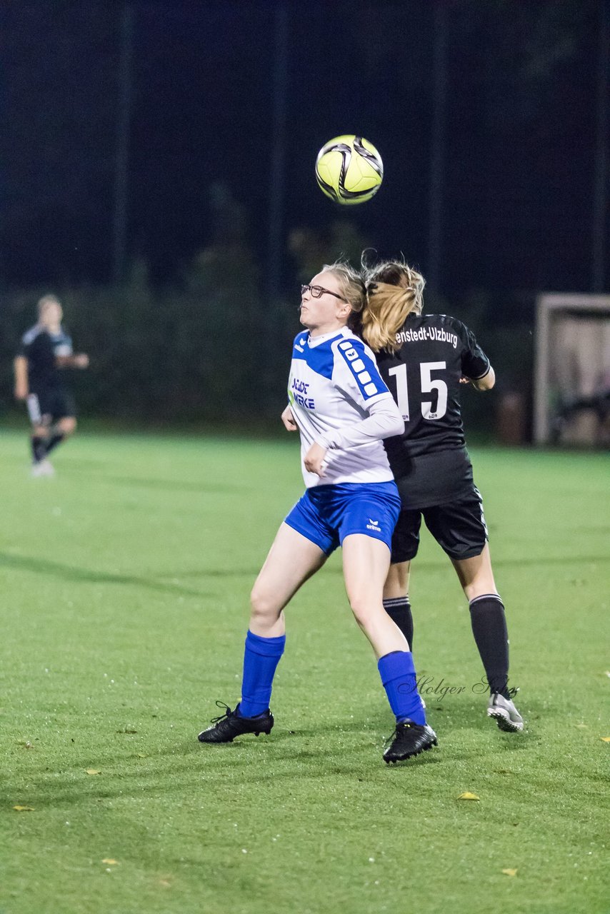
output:
M 364 282 L 343 263 L 325 266 L 301 287 L 282 419 L 301 434 L 305 494 L 280 526 L 251 592 L 241 701 L 199 734 L 204 743 L 270 733 L 275 669 L 284 654 L 284 607 L 340 545 L 348 600 L 378 659 L 396 728 L 383 753 L 396 762 L 430 749 L 406 639 L 383 608 L 391 535 L 400 497 L 381 443 L 404 423 L 369 347 L 348 329 L 366 302 Z M 358 696 L 353 697 L 354 704 Z

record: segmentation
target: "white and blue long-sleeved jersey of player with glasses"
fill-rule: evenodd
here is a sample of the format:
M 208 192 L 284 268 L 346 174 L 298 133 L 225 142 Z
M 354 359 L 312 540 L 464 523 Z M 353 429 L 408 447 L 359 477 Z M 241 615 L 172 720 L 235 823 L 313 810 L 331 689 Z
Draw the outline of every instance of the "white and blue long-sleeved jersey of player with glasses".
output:
M 288 399 L 301 433 L 307 488 L 393 480 L 381 441 L 388 435 L 372 413 L 382 411 L 386 428 L 389 419 L 399 429 L 390 434 L 401 434 L 401 415 L 369 346 L 348 327 L 313 339 L 307 331 L 295 337 Z M 322 477 L 303 462 L 315 442 L 328 449 Z

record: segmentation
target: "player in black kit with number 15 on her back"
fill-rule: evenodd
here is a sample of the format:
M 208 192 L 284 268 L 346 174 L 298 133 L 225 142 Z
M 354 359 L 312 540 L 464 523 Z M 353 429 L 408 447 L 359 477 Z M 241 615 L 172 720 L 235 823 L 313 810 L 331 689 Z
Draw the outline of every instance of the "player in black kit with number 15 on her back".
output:
M 475 336 L 455 317 L 422 314 L 423 276 L 399 260 L 366 268 L 368 307 L 361 334 L 377 354 L 404 433 L 384 441 L 401 494 L 384 606 L 412 648 L 409 571 L 422 517 L 451 558 L 470 606 L 490 697 L 487 715 L 501 730 L 523 728 L 508 689 L 508 631 L 494 581 L 481 495 L 460 409 L 460 385 L 494 386 L 494 369 Z

